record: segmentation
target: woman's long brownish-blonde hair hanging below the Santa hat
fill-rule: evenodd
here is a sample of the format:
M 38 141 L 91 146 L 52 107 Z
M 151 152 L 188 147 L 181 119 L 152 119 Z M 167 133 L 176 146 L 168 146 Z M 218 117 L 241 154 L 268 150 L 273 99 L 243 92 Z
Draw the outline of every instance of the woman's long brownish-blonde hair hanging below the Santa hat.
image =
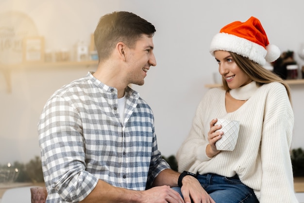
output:
M 266 70 L 261 65 L 255 63 L 254 61 L 250 60 L 247 57 L 237 55 L 233 52 L 229 52 L 234 61 L 236 62 L 236 65 L 245 73 L 248 75 L 250 79 L 256 82 L 258 86 L 262 86 L 266 83 L 270 82 L 279 82 L 283 84 L 286 88 L 287 95 L 289 98 L 289 101 L 291 103 L 291 93 L 290 88 L 288 84 L 278 75 L 272 73 L 269 70 Z M 226 91 L 229 91 L 230 88 L 228 87 L 228 84 L 226 80 L 223 78 L 223 88 Z

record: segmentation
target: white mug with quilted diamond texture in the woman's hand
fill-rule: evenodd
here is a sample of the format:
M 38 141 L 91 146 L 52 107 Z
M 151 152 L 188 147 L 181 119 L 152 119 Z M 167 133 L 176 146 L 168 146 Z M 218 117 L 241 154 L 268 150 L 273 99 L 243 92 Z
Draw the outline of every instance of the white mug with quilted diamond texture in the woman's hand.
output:
M 215 125 L 221 125 L 221 129 L 218 129 L 217 131 L 224 132 L 221 139 L 215 144 L 217 149 L 227 151 L 234 150 L 238 138 L 239 121 L 219 118 Z

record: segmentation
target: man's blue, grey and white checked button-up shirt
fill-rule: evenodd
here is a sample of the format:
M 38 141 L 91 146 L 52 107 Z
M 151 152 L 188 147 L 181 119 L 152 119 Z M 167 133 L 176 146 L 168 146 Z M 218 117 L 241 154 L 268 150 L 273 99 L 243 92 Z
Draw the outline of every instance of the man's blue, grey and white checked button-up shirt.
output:
M 169 165 L 161 159 L 149 105 L 127 87 L 120 122 L 117 90 L 91 73 L 55 92 L 39 123 L 47 202 L 82 201 L 99 179 L 144 190 Z

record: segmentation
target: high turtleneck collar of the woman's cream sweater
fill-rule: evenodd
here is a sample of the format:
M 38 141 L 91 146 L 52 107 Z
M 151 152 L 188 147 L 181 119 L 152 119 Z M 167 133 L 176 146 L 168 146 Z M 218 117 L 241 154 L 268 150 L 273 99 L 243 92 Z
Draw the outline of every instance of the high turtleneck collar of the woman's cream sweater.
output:
M 230 95 L 237 100 L 248 100 L 253 93 L 258 89 L 255 81 L 248 83 L 242 87 L 229 91 Z

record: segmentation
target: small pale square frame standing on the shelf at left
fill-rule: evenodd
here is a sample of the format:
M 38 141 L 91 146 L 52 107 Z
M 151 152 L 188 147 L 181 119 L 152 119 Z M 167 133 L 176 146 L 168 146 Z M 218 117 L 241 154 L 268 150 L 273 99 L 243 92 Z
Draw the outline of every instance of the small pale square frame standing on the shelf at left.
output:
M 23 62 L 44 61 L 44 37 L 24 37 Z

